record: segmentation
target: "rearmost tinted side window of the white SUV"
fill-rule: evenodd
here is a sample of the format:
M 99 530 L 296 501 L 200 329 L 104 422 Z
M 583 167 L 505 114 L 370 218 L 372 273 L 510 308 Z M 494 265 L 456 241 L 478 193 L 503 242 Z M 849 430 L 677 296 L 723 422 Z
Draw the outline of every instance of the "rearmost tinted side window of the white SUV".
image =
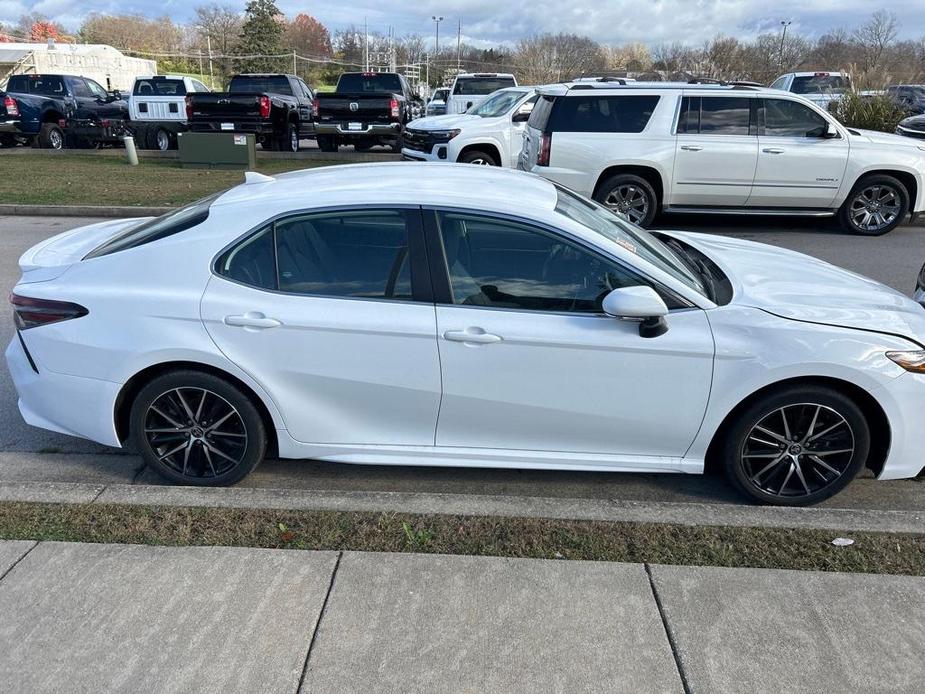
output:
M 639 133 L 652 117 L 658 96 L 569 96 L 556 101 L 547 130 L 578 133 Z

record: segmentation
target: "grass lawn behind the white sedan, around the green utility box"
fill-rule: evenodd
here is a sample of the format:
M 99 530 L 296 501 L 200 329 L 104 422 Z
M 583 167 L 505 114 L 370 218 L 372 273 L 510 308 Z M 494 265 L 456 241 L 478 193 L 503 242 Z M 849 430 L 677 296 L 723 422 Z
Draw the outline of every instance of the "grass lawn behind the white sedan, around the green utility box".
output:
M 331 164 L 304 159 L 262 159 L 274 174 Z M 185 205 L 244 180 L 241 171 L 184 169 L 172 159 L 120 156 L 10 154 L 0 156 L 0 202 L 18 205 Z

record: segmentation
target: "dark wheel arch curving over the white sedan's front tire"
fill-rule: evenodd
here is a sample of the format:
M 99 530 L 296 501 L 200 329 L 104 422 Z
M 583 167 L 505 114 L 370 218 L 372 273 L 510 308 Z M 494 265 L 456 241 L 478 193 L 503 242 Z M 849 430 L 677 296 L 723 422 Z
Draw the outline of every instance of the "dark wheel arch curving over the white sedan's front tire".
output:
M 729 411 L 729 414 L 723 418 L 722 423 L 720 423 L 716 431 L 713 432 L 713 436 L 710 439 L 710 445 L 707 448 L 707 455 L 704 459 L 704 473 L 714 474 L 722 472 L 723 461 L 721 459 L 721 449 L 723 440 L 725 439 L 726 434 L 728 433 L 729 428 L 732 426 L 736 417 L 745 408 L 751 406 L 752 403 L 754 403 L 756 400 L 760 400 L 761 398 L 766 397 L 776 391 L 783 390 L 792 386 L 814 385 L 824 386 L 833 390 L 837 390 L 838 392 L 851 398 L 855 404 L 861 408 L 861 412 L 864 413 L 864 417 L 867 419 L 867 422 L 870 426 L 870 452 L 867 456 L 866 467 L 872 470 L 875 475 L 879 476 L 883 471 L 883 466 L 886 463 L 887 455 L 890 452 L 890 444 L 892 440 L 890 421 L 887 418 L 886 412 L 880 403 L 877 402 L 876 398 L 874 398 L 874 396 L 872 396 L 864 388 L 861 388 L 860 386 L 851 383 L 850 381 L 845 381 L 840 378 L 833 378 L 829 376 L 788 378 L 763 386 L 751 395 L 745 397 Z

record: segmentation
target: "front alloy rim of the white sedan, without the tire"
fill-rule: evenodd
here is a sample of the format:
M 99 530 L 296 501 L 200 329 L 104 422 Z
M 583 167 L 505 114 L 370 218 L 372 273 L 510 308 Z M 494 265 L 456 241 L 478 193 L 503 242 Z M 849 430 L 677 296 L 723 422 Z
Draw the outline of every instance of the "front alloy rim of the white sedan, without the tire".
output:
M 787 405 L 749 431 L 741 465 L 756 489 L 776 497 L 809 496 L 837 482 L 855 453 L 851 425 L 826 405 Z

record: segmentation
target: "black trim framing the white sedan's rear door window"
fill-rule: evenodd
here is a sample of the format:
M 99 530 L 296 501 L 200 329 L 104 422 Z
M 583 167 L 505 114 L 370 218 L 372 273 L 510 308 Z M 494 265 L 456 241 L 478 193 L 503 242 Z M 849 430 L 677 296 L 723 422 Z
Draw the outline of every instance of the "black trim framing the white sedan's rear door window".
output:
M 253 284 L 248 284 L 247 282 L 241 282 L 239 280 L 232 279 L 227 275 L 222 274 L 218 269 L 219 261 L 224 257 L 224 255 L 230 251 L 235 246 L 238 246 L 247 240 L 263 233 L 266 231 L 267 227 L 275 227 L 278 222 L 285 221 L 287 219 L 295 217 L 305 217 L 308 215 L 314 214 L 331 214 L 336 212 L 373 212 L 373 211 L 414 211 L 417 210 L 418 214 L 409 214 L 407 216 L 408 221 L 408 257 L 411 259 L 411 301 L 407 299 L 387 299 L 379 298 L 372 296 L 342 296 L 339 294 L 315 294 L 315 293 L 303 293 L 303 292 L 286 292 L 280 289 L 267 289 L 266 287 L 258 287 Z M 293 297 L 303 297 L 310 299 L 338 299 L 340 301 L 377 301 L 380 303 L 390 303 L 390 304 L 402 304 L 408 306 L 410 304 L 431 304 L 434 302 L 434 292 L 433 292 L 433 283 L 431 280 L 431 272 L 428 266 L 427 261 L 427 252 L 425 248 L 425 223 L 423 220 L 423 211 L 420 205 L 413 204 L 402 204 L 402 203 L 369 203 L 364 205 L 332 205 L 325 207 L 312 207 L 308 209 L 294 209 L 286 210 L 285 212 L 280 212 L 268 219 L 263 220 L 260 224 L 251 227 L 248 231 L 244 232 L 240 236 L 236 237 L 233 241 L 226 244 L 218 253 L 212 257 L 212 261 L 209 263 L 209 270 L 214 277 L 217 277 L 225 282 L 231 282 L 232 284 L 237 284 L 242 287 L 247 287 L 248 289 L 253 289 L 258 292 L 266 292 L 268 294 L 276 294 L 279 296 L 293 296 Z M 276 253 L 276 243 L 275 243 L 275 230 L 272 230 L 271 233 L 274 234 L 274 244 L 273 252 Z M 278 269 L 277 269 L 278 272 Z

